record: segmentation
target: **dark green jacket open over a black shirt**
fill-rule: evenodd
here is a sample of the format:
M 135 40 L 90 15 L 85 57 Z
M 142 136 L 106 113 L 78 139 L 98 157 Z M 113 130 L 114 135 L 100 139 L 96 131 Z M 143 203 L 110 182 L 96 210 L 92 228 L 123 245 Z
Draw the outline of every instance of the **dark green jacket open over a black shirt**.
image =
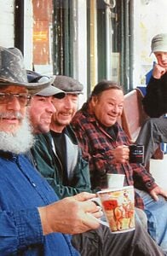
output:
M 91 192 L 88 162 L 82 158 L 81 149 L 78 148 L 77 139 L 71 127 L 68 126 L 64 132 L 71 142 L 77 146 L 73 150 L 77 150 L 78 154 L 78 160 L 75 166 L 72 166 L 72 179 L 71 181 L 66 181 L 66 186 L 63 184 L 64 171 L 60 159 L 53 150 L 51 134 L 37 135 L 35 146 L 32 148 L 37 170 L 47 179 L 60 198 L 76 195 L 83 191 Z

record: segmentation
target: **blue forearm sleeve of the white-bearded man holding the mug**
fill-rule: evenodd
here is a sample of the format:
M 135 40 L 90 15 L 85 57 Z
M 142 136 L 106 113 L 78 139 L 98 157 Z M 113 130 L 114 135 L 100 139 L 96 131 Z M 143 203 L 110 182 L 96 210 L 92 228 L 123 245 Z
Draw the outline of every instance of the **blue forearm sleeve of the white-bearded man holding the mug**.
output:
M 39 243 L 43 243 L 43 230 L 37 208 L 15 212 L 0 209 L 0 255 L 13 255 Z

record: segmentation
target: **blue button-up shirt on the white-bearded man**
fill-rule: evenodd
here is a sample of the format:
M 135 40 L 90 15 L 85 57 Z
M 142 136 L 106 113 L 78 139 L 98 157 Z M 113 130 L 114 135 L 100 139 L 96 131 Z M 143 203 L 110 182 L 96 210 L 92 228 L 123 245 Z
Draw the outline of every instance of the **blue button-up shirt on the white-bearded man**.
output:
M 71 236 L 43 236 L 37 207 L 57 200 L 25 156 L 0 152 L 0 255 L 79 255 Z

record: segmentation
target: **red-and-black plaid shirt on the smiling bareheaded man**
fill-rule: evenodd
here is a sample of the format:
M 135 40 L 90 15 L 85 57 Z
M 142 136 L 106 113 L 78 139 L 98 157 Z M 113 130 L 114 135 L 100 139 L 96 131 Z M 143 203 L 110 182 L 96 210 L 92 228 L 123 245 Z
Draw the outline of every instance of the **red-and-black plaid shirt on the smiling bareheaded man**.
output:
M 151 174 L 140 164 L 114 164 L 112 162 L 112 149 L 119 145 L 130 144 L 118 123 L 114 125 L 116 138 L 113 138 L 98 123 L 88 103 L 85 103 L 72 120 L 72 126 L 78 137 L 78 143 L 83 149 L 83 157 L 89 160 L 92 189 L 107 187 L 107 172 L 125 174 L 124 185 L 134 185 L 137 189 L 150 191 L 157 186 Z M 143 208 L 142 199 L 137 194 L 135 206 Z

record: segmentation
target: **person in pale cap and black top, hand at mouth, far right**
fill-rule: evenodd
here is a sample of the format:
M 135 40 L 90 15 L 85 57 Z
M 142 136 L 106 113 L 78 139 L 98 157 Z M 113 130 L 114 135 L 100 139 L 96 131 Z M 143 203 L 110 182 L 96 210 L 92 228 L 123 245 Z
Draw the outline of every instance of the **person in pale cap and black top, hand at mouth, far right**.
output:
M 159 143 L 167 143 L 167 33 L 152 39 L 152 53 L 157 58 L 152 77 L 147 84 L 143 107 L 150 119 L 142 125 L 136 143 L 145 146 L 145 166 L 158 148 Z

